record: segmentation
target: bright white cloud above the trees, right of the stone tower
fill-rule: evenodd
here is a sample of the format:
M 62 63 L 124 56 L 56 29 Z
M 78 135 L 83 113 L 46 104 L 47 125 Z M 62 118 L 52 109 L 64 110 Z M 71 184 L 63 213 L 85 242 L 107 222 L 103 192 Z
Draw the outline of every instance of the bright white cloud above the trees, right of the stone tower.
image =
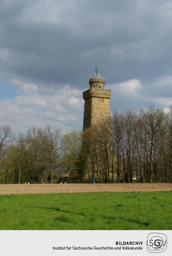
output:
M 139 111 L 145 109 L 148 105 L 164 108 L 168 110 L 169 104 L 172 103 L 172 94 L 169 91 L 172 77 L 167 76 L 152 82 L 152 88 L 145 90 L 145 84 L 140 80 L 132 79 L 122 83 L 107 85 L 107 89 L 112 89 L 111 110 L 124 111 L 131 109 Z M 168 94 L 164 93 L 167 91 Z

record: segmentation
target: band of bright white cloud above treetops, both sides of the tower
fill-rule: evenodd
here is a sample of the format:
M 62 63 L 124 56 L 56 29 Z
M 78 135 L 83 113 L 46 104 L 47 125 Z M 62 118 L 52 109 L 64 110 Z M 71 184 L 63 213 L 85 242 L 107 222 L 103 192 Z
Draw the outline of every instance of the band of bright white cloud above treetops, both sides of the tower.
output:
M 170 85 L 171 77 L 164 77 L 153 86 L 164 88 Z M 83 107 L 82 89 L 73 89 L 70 85 L 60 88 L 42 87 L 32 83 L 13 81 L 18 85 L 18 96 L 12 100 L 0 101 L 0 125 L 10 124 L 15 133 L 27 130 L 29 127 L 45 127 L 50 125 L 53 129 L 60 128 L 66 132 L 73 128 L 82 129 Z M 87 89 L 89 85 L 87 86 Z M 163 107 L 168 111 L 172 97 L 154 96 L 143 93 L 143 84 L 138 79 L 131 79 L 122 83 L 106 85 L 105 89 L 112 89 L 111 111 L 124 111 L 131 109 L 139 111 L 149 104 Z

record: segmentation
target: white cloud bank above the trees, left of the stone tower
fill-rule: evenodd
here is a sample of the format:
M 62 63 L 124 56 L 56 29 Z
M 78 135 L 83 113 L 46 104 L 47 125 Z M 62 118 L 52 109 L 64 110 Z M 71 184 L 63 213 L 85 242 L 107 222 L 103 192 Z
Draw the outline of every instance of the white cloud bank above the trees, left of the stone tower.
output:
M 19 82 L 18 91 L 22 94 L 13 100 L 0 101 L 0 124 L 10 124 L 15 133 L 25 132 L 33 125 L 50 125 L 62 132 L 82 129 L 84 105 L 81 90 L 65 86 L 40 94 L 37 85 Z

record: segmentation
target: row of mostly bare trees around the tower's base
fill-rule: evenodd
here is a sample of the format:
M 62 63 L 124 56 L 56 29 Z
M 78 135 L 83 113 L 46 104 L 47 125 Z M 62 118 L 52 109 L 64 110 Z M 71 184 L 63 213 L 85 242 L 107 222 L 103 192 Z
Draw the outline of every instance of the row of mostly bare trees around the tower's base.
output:
M 172 182 L 172 105 L 113 112 L 91 128 L 61 134 L 0 126 L 0 183 Z

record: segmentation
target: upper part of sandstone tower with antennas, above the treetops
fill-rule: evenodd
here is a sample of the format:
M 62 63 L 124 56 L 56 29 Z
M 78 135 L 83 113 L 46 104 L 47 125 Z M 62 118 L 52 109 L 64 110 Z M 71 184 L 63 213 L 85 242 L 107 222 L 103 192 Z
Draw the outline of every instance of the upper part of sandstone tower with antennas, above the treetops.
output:
M 84 118 L 83 130 L 90 128 L 101 118 L 110 117 L 111 90 L 105 90 L 105 80 L 102 78 L 96 67 L 94 78 L 90 78 L 90 89 L 83 92 Z

